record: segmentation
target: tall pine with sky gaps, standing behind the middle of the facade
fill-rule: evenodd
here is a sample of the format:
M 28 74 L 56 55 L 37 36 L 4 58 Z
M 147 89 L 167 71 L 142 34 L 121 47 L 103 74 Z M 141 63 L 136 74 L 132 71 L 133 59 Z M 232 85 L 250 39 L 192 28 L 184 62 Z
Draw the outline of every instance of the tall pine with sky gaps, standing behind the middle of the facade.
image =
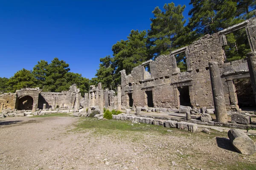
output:
M 178 34 L 184 29 L 186 20 L 183 17 L 185 5 L 175 6 L 174 3 L 168 3 L 163 6 L 165 11 L 161 11 L 157 6 L 152 13 L 150 30 L 148 30 L 148 39 L 151 43 L 151 54 L 158 57 L 162 54 L 169 54 L 171 50 L 179 48 L 181 45 L 177 40 Z

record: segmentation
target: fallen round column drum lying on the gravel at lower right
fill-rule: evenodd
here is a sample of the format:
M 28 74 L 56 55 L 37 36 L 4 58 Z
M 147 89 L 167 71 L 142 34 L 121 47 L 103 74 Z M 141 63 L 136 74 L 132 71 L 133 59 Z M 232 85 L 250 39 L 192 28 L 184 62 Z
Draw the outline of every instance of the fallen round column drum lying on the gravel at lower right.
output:
M 244 155 L 252 155 L 256 152 L 255 143 L 243 131 L 238 129 L 230 129 L 227 135 L 239 153 Z

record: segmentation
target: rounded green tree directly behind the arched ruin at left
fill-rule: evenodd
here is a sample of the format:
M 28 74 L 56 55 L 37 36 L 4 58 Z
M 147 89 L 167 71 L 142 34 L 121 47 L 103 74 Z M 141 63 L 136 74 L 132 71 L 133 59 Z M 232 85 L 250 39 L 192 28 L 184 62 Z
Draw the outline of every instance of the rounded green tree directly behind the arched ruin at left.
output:
M 8 85 L 10 86 L 10 91 L 15 92 L 21 88 L 35 88 L 37 79 L 34 77 L 31 71 L 22 69 L 17 71 L 13 77 L 9 79 Z

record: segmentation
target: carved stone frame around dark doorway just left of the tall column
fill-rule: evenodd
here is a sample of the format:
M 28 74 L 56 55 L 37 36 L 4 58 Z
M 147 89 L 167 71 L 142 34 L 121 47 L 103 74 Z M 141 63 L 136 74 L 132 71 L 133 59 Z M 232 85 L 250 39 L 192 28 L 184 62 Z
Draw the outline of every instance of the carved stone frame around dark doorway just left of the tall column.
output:
M 172 82 L 171 85 L 173 87 L 176 108 L 180 108 L 180 97 L 179 97 L 180 92 L 178 90 L 178 87 L 183 87 L 183 86 L 189 86 L 190 103 L 192 106 L 195 106 L 195 98 L 194 98 L 194 91 L 193 91 L 193 86 L 192 86 L 192 79 L 186 79 L 186 80 L 182 80 L 182 81 Z

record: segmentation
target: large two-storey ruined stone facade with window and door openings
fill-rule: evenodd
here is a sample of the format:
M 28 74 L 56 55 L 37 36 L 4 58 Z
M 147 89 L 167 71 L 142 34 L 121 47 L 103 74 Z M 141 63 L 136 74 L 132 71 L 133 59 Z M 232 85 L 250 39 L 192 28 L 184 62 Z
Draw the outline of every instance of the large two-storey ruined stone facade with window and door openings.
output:
M 223 49 L 227 45 L 225 35 L 242 28 L 245 28 L 251 53 L 247 59 L 226 62 Z M 175 57 L 181 53 L 186 55 L 187 69 L 184 72 L 177 67 Z M 217 70 L 214 65 L 217 65 Z M 167 56 L 143 62 L 133 68 L 129 75 L 125 70 L 120 73 L 123 107 L 148 106 L 165 108 L 167 111 L 175 110 L 180 105 L 214 108 L 214 101 L 223 98 L 220 101 L 224 102 L 227 110 L 239 111 L 236 80 L 249 78 L 253 99 L 256 94 L 256 18 L 216 34 L 205 35 Z M 218 80 L 220 86 L 217 85 Z

